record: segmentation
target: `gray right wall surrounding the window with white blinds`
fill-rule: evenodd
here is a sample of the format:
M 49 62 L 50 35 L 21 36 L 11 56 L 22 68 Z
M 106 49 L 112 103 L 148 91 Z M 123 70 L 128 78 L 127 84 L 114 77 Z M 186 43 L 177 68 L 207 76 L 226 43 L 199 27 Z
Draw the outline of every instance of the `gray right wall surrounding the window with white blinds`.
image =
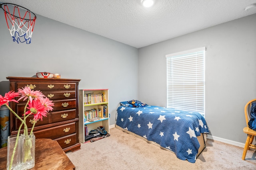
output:
M 166 107 L 165 55 L 206 47 L 205 118 L 210 135 L 244 143 L 245 104 L 256 98 L 256 14 L 139 49 L 139 97 Z

